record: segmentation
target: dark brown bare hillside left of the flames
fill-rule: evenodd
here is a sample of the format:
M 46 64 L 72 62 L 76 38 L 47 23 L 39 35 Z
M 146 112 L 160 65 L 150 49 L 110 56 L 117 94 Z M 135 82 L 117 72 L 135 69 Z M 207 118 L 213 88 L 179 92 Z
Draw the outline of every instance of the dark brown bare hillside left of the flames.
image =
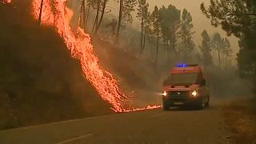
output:
M 0 2 L 0 130 L 111 113 L 62 38 L 38 26 L 29 7 Z

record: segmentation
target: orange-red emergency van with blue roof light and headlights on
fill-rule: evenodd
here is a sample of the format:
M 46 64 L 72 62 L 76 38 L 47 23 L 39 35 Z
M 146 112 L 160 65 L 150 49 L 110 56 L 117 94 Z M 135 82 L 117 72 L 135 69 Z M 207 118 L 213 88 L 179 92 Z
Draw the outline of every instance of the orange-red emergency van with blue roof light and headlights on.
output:
M 210 105 L 210 88 L 206 73 L 198 64 L 179 64 L 163 82 L 163 109 L 171 106 L 193 106 L 198 110 Z

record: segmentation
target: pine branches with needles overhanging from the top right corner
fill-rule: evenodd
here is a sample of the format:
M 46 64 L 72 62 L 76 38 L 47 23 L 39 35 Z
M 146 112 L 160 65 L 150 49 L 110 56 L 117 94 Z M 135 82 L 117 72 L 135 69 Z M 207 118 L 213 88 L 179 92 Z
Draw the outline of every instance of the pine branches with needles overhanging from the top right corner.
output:
M 209 8 L 204 3 L 201 10 L 214 26 L 222 26 L 228 35 L 241 36 L 256 21 L 256 2 L 253 0 L 211 0 Z

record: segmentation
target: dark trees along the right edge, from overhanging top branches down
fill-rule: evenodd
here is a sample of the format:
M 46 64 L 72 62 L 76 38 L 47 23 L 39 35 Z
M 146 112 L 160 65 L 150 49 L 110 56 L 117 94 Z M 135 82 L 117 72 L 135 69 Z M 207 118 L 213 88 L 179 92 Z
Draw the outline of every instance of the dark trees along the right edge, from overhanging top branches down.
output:
M 240 39 L 239 73 L 243 78 L 250 78 L 256 86 L 255 7 L 256 2 L 253 0 L 211 0 L 209 7 L 206 8 L 204 3 L 201 5 L 202 12 L 211 19 L 212 25 L 222 26 L 228 35 L 234 34 Z M 229 47 L 229 42 L 226 42 L 226 46 Z M 226 52 L 228 55 L 230 52 Z

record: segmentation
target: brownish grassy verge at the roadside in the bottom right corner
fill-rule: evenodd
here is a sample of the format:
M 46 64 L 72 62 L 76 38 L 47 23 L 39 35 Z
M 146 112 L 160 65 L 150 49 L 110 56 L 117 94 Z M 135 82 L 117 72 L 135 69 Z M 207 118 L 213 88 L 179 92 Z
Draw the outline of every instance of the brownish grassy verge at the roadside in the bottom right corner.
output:
M 256 98 L 230 102 L 224 115 L 236 143 L 256 144 Z

